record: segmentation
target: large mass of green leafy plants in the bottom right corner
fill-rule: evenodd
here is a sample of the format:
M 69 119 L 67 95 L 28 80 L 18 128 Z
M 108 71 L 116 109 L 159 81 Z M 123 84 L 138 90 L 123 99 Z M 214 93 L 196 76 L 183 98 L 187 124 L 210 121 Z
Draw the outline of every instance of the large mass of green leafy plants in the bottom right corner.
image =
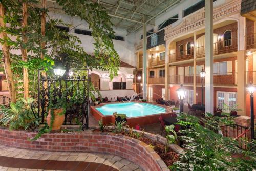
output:
M 207 116 L 207 114 L 206 114 Z M 198 119 L 195 116 L 180 114 L 181 125 L 178 137 L 184 141 L 184 153 L 180 160 L 169 168 L 171 170 L 253 170 L 256 167 L 255 141 L 248 142 L 249 150 L 238 147 L 238 141 L 223 137 L 212 129 L 218 123 L 207 116 Z M 214 123 L 214 124 L 212 124 Z M 216 128 L 218 129 L 218 128 Z M 234 157 L 233 155 L 240 157 Z

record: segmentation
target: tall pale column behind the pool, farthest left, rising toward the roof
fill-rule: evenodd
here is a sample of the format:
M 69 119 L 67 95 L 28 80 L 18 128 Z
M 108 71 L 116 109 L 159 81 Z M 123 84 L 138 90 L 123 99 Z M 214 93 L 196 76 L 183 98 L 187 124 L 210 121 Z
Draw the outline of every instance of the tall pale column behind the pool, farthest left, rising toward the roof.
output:
M 143 69 L 142 69 L 142 88 L 143 99 L 147 98 L 147 53 L 146 53 L 146 23 L 143 23 Z

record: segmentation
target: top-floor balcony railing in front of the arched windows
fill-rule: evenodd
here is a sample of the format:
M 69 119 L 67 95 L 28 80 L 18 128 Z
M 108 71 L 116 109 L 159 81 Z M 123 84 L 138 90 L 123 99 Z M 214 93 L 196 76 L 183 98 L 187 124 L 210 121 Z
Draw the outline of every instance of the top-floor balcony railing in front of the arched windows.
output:
M 229 40 L 223 40 L 215 42 L 213 45 L 213 54 L 223 54 L 229 52 L 236 52 L 238 48 L 237 38 L 232 38 Z M 196 47 L 197 58 L 205 57 L 205 46 Z M 193 59 L 194 57 L 194 48 L 191 50 L 186 50 L 178 53 L 173 53 L 169 55 L 170 62 L 182 61 Z

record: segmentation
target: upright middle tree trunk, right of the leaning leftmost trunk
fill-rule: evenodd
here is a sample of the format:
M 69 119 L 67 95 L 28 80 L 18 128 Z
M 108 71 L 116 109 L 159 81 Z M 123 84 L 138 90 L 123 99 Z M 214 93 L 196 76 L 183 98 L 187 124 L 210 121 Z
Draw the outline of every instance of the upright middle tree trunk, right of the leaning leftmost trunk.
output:
M 23 1 L 22 3 L 23 12 L 22 12 L 22 26 L 23 26 L 23 43 L 26 44 L 28 42 L 27 36 L 26 36 L 26 30 L 28 27 L 28 12 L 27 12 L 27 2 Z M 20 50 L 22 52 L 22 60 L 24 62 L 28 61 L 28 55 L 27 55 L 27 48 L 24 48 L 23 46 L 20 46 Z M 28 99 L 29 97 L 29 76 L 28 76 L 28 69 L 23 68 L 23 93 L 24 98 Z

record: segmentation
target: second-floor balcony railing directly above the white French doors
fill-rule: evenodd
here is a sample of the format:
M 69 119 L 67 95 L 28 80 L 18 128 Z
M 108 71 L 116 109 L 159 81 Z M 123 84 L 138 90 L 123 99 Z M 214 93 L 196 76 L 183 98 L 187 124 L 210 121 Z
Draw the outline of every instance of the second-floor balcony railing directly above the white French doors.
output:
M 193 75 L 173 75 L 169 76 L 170 84 L 193 84 Z M 202 84 L 202 78 L 196 76 L 196 84 Z M 235 85 L 236 75 L 235 73 L 216 73 L 214 74 L 214 85 Z

